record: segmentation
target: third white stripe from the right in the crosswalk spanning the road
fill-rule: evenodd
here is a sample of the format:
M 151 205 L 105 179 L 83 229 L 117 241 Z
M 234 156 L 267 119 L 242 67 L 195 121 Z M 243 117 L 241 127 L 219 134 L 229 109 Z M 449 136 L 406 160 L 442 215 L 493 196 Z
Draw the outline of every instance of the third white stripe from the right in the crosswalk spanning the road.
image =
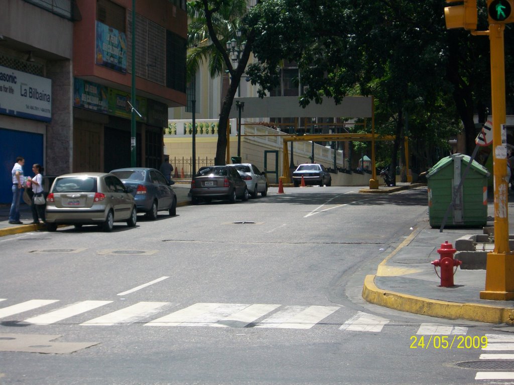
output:
M 340 306 L 286 306 L 285 310 L 262 320 L 256 328 L 310 329 Z

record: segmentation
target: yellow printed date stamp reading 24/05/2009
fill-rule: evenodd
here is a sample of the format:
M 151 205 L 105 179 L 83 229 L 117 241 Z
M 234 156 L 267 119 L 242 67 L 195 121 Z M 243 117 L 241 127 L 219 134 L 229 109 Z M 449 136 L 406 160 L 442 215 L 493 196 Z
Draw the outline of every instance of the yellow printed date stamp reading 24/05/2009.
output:
M 411 336 L 411 349 L 484 349 L 487 336 Z

